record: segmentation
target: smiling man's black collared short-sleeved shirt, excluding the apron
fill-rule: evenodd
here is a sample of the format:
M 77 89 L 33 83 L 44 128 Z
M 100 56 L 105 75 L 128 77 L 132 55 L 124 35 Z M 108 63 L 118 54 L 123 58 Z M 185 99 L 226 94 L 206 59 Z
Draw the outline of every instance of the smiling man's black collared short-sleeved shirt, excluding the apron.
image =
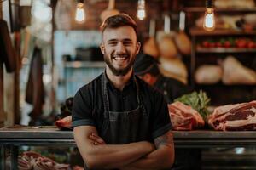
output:
M 72 126 L 90 125 L 96 127 L 98 133 L 102 130 L 103 122 L 103 89 L 102 74 L 92 82 L 80 88 L 73 99 Z M 108 78 L 107 78 L 108 79 Z M 136 82 L 133 78 L 122 91 L 114 88 L 112 82 L 106 81 L 110 111 L 131 111 L 137 108 Z M 148 112 L 151 134 L 150 139 L 159 137 L 172 129 L 166 101 L 162 94 L 149 87 L 146 82 L 137 78 L 142 103 Z

